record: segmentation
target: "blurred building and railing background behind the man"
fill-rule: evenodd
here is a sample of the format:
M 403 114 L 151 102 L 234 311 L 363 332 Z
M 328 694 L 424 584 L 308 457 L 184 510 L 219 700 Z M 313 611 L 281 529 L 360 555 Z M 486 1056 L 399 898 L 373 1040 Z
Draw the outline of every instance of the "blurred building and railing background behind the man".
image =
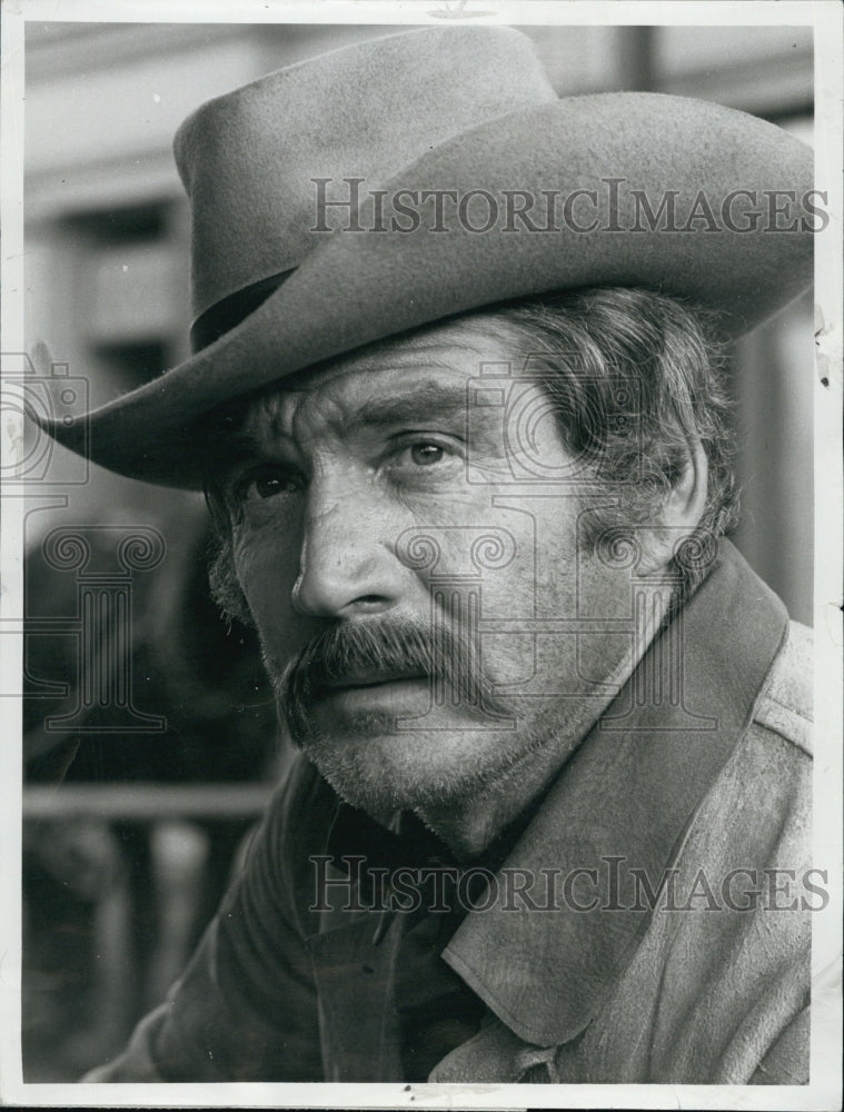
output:
M 270 70 L 395 30 L 28 23 L 27 342 L 47 338 L 67 365 L 57 368 L 63 404 L 78 407 L 87 391 L 99 405 L 188 355 L 188 211 L 170 152 L 181 120 Z M 522 30 L 560 95 L 701 97 L 812 141 L 811 29 Z M 739 345 L 731 377 L 744 490 L 735 540 L 805 623 L 812 328 L 806 297 Z M 207 598 L 201 498 L 97 467 L 80 474 L 58 447 L 38 459 L 23 678 L 30 1082 L 75 1080 L 160 1000 L 279 762 L 256 645 Z M 140 545 L 131 558 L 130 535 Z M 103 599 L 118 615 L 109 631 L 98 625 Z

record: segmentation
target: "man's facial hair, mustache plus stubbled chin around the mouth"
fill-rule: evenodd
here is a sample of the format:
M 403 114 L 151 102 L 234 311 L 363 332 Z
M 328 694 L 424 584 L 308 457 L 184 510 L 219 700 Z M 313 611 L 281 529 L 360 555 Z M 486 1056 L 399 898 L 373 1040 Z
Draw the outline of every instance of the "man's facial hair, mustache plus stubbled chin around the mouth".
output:
M 265 651 L 265 665 L 290 742 L 314 762 L 346 802 L 370 814 L 398 808 L 416 812 L 459 808 L 481 793 L 495 791 L 528 753 L 559 732 L 559 707 L 547 706 L 528 723 L 525 703 L 503 698 L 484 674 L 475 647 L 459 635 L 406 623 L 384 623 L 351 631 L 334 627 L 288 665 Z M 321 684 L 357 665 L 387 671 L 419 667 L 450 692 L 461 709 L 431 728 L 380 708 L 345 713 L 338 729 L 317 718 Z

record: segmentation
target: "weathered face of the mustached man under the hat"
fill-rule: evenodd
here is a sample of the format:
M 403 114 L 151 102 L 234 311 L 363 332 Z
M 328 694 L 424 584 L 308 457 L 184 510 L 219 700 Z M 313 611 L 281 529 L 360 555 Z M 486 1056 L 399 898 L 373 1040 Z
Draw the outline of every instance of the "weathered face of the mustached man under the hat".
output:
M 476 320 L 294 378 L 224 484 L 295 741 L 374 814 L 579 732 L 632 647 L 629 569 L 578 543 L 588 475 L 524 355 Z

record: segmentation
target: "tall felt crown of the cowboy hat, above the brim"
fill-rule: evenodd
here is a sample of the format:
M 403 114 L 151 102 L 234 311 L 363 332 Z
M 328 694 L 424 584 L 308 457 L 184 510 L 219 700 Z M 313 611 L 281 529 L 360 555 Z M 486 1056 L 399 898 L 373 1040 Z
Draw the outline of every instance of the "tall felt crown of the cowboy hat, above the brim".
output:
M 326 239 L 317 186 L 349 198 L 430 148 L 500 116 L 556 100 L 527 36 L 426 28 L 299 62 L 202 105 L 176 161 L 192 209 L 195 317 L 290 270 Z M 348 222 L 324 209 L 321 226 Z

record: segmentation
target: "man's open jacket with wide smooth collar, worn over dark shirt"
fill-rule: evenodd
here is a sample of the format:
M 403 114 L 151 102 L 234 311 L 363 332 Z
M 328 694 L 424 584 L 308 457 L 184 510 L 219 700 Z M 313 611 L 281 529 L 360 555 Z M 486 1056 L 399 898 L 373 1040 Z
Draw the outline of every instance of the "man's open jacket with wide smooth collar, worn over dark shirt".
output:
M 673 634 L 445 946 L 485 1011 L 429 1081 L 807 1081 L 808 632 L 722 542 Z M 376 937 L 342 885 L 315 902 L 338 805 L 298 757 L 167 1002 L 86 1080 L 405 1080 L 401 916 Z

